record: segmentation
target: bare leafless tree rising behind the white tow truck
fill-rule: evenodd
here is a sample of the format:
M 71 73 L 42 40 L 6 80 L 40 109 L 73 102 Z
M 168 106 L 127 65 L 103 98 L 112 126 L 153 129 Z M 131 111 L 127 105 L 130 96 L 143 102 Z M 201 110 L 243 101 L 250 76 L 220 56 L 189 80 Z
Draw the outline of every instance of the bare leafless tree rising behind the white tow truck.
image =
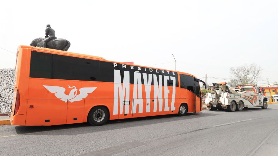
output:
M 240 84 L 255 84 L 259 81 L 258 76 L 261 74 L 261 70 L 261 66 L 257 66 L 254 63 L 232 67 L 230 68 L 232 78 L 228 84 L 232 87 L 237 87 Z

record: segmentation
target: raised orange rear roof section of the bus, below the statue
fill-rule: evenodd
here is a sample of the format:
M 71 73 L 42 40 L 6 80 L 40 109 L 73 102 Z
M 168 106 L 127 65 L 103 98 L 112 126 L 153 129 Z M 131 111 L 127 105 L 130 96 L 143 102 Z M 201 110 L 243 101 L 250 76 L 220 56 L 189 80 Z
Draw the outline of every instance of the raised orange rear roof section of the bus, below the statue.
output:
M 49 48 L 39 48 L 39 47 L 33 47 L 33 46 L 26 46 L 26 45 L 20 45 L 17 48 L 30 48 L 30 49 L 35 49 L 35 50 L 43 50 L 43 51 L 51 51 L 51 52 L 55 52 L 55 53 L 62 53 L 62 54 L 68 54 L 68 55 L 75 55 L 75 56 L 82 56 L 82 57 L 91 57 L 91 58 L 96 58 L 96 59 L 101 59 L 101 60 L 105 60 L 103 57 L 98 57 L 98 56 L 93 56 L 93 55 L 85 55 L 85 54 L 79 54 L 79 53 L 72 53 L 72 52 L 68 52 L 68 51 L 62 51 L 62 50 L 56 50 L 56 49 L 49 49 Z

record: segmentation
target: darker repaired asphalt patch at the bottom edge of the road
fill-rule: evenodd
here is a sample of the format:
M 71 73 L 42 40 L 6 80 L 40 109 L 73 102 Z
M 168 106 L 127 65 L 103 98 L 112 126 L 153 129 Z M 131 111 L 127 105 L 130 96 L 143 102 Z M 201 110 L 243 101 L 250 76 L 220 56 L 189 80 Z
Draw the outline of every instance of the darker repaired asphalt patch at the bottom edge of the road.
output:
M 114 155 L 117 153 L 121 153 L 124 151 L 127 151 L 131 148 L 135 148 L 135 147 L 139 147 L 145 145 L 144 142 L 140 142 L 140 141 L 133 141 L 133 142 L 127 142 L 125 144 L 120 144 L 120 145 L 116 145 L 116 146 L 112 146 L 112 147 L 108 147 L 108 148 L 103 148 L 97 151 L 93 151 L 93 152 L 89 152 L 89 153 L 85 153 L 82 154 L 80 156 L 91 156 L 91 155 L 97 155 L 97 156 L 105 156 L 105 155 Z

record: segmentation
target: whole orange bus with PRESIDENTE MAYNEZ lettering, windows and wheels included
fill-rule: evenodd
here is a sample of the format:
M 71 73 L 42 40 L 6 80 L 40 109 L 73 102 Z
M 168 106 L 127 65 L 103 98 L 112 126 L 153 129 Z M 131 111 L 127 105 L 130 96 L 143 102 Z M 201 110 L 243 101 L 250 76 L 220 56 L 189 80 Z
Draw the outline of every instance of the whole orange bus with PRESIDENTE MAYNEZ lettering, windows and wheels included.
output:
M 61 125 L 202 111 L 191 74 L 19 46 L 12 125 Z

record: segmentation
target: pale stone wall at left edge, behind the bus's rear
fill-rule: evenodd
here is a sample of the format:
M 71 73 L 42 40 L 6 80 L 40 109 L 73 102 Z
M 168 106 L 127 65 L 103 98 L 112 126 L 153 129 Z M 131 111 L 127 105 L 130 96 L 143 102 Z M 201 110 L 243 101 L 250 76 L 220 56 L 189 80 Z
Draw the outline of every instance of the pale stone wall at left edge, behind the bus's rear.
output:
M 14 69 L 0 69 L 0 114 L 10 114 L 14 92 Z

